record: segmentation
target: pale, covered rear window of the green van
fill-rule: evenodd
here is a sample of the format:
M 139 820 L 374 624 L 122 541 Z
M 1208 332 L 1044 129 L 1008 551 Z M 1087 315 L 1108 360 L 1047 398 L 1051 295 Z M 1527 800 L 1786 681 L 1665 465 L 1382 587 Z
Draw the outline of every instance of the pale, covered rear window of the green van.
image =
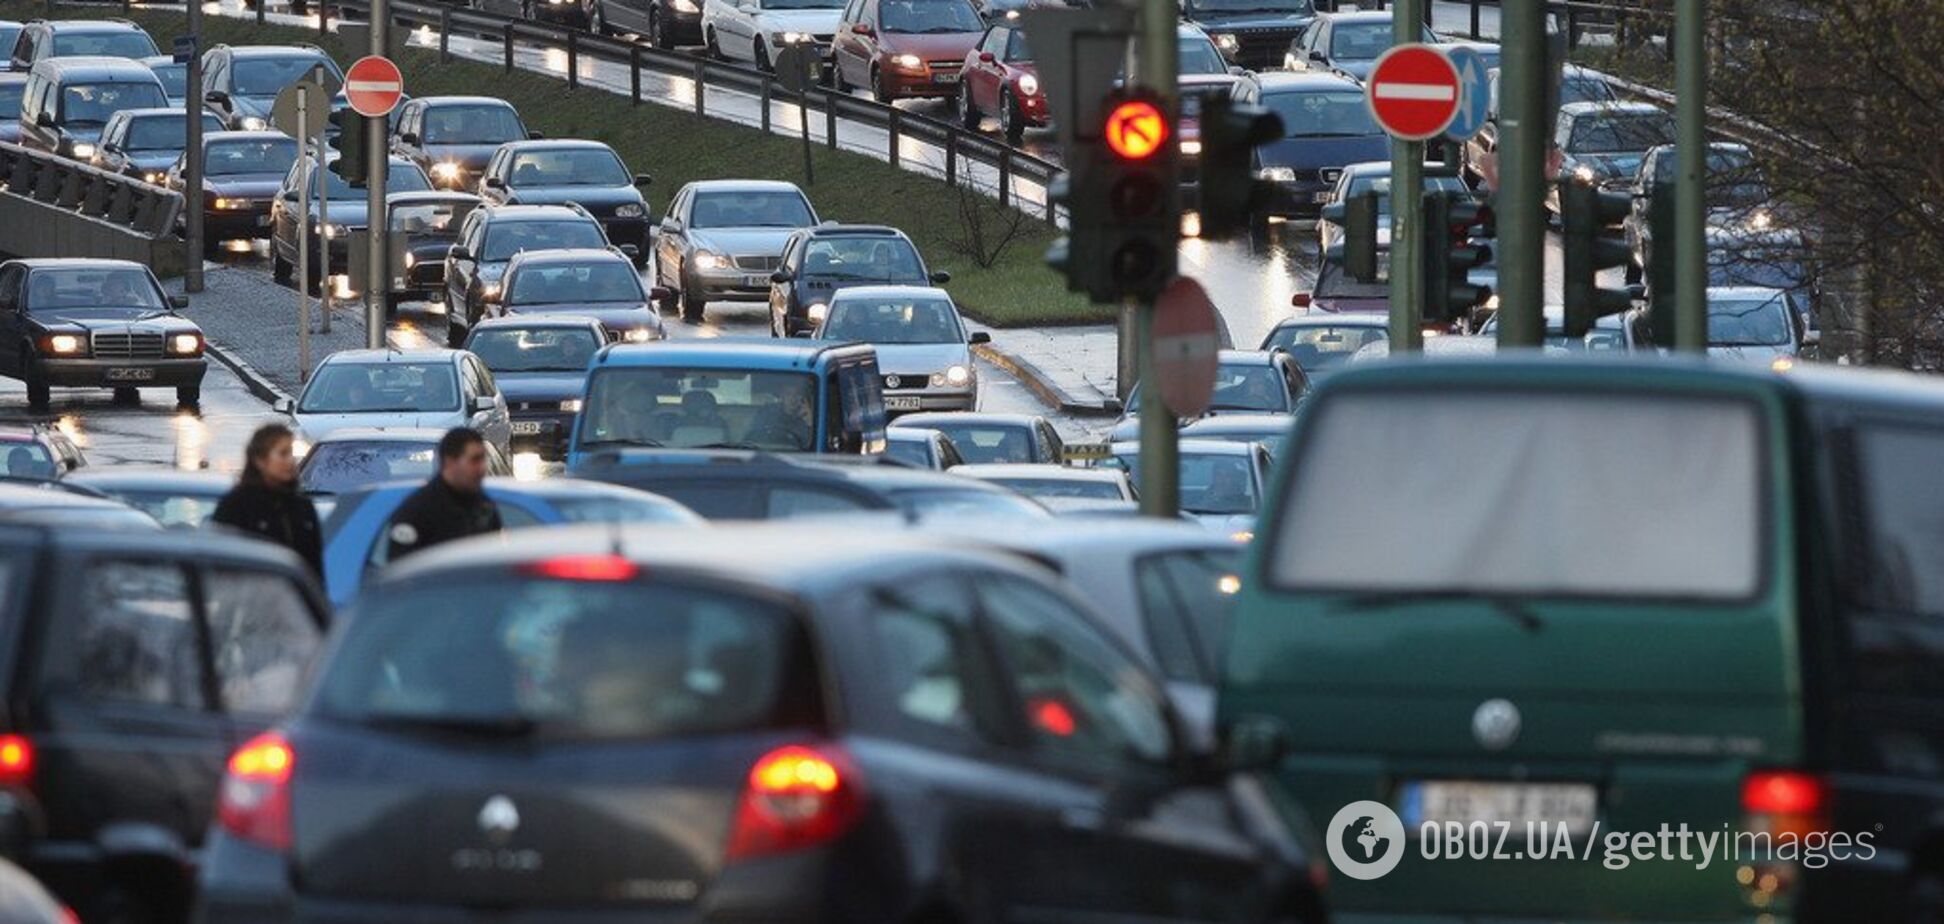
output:
M 1763 574 L 1757 405 L 1695 395 L 1326 399 L 1273 519 L 1269 586 L 1748 599 Z

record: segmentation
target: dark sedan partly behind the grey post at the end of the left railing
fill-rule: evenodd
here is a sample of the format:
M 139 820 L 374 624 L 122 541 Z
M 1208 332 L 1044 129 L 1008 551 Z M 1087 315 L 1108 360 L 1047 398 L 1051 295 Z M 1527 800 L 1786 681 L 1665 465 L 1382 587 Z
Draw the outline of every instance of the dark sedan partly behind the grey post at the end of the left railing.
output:
M 202 136 L 202 239 L 214 247 L 227 239 L 270 235 L 270 202 L 297 163 L 297 140 L 284 132 L 222 132 Z M 183 163 L 161 181 L 185 193 Z

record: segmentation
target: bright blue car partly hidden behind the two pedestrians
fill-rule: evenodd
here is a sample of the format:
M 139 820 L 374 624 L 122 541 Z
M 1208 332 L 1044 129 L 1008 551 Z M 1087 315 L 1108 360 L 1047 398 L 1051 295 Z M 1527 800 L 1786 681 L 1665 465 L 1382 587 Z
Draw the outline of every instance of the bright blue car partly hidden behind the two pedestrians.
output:
M 391 560 L 385 523 L 422 480 L 395 480 L 336 498 L 325 521 L 325 589 L 332 607 L 358 595 L 364 580 Z M 688 508 L 645 490 L 595 480 L 486 479 L 486 496 L 500 504 L 507 529 L 568 523 L 702 523 Z

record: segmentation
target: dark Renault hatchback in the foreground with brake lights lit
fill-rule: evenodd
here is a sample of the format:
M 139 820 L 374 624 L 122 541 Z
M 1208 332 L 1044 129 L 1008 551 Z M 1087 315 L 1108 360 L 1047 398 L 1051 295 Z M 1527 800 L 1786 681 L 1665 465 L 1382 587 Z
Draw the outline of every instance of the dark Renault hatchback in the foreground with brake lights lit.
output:
M 1318 920 L 1242 761 L 1192 757 L 1052 572 L 955 545 L 573 527 L 393 566 L 231 759 L 200 920 Z

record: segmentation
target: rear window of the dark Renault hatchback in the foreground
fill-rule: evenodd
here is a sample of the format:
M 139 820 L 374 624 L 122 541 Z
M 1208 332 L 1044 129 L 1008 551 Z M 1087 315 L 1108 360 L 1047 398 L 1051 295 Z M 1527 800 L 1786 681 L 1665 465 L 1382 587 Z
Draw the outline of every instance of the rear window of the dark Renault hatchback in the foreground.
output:
M 803 624 L 780 603 L 649 580 L 465 572 L 346 621 L 313 708 L 377 726 L 651 739 L 820 726 Z

